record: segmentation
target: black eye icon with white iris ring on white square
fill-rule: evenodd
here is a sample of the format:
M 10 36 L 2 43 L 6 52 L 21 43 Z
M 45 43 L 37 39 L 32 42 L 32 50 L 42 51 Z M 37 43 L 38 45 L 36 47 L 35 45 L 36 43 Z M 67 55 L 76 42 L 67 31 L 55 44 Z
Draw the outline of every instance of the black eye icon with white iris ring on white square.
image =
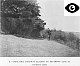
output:
M 70 3 L 65 7 L 65 9 L 70 13 L 75 13 L 79 10 L 79 6 L 75 3 Z

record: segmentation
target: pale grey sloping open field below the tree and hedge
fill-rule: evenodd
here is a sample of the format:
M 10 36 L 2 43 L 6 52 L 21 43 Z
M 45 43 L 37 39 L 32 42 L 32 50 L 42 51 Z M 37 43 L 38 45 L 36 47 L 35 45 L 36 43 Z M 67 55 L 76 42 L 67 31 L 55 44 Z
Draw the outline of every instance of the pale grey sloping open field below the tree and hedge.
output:
M 0 35 L 3 57 L 74 57 L 77 51 L 55 41 L 32 40 Z

